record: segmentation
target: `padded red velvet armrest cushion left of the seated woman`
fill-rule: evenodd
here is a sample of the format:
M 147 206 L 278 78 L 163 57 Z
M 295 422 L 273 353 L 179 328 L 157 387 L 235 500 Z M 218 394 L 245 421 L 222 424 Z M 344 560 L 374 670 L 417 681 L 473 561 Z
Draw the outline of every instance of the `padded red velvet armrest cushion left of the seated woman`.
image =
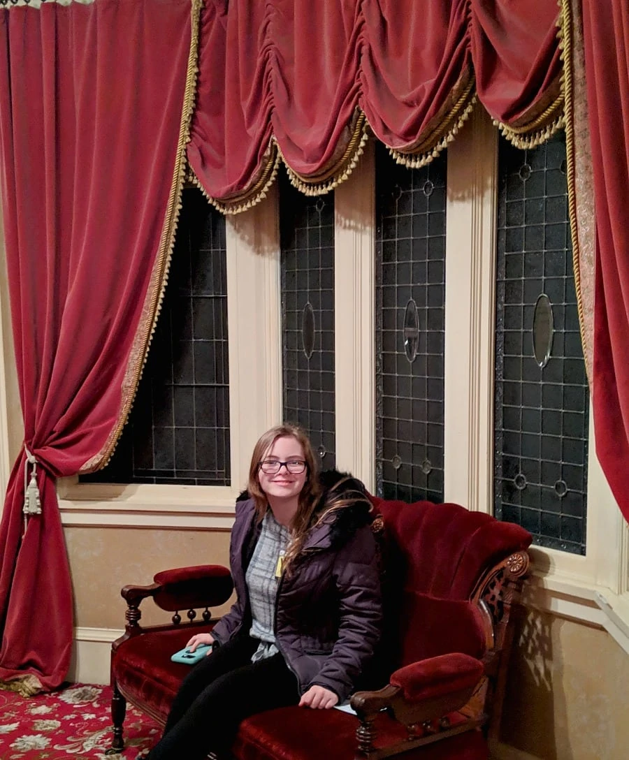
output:
M 218 606 L 227 602 L 233 591 L 230 572 L 223 565 L 163 570 L 153 580 L 154 601 L 168 612 Z

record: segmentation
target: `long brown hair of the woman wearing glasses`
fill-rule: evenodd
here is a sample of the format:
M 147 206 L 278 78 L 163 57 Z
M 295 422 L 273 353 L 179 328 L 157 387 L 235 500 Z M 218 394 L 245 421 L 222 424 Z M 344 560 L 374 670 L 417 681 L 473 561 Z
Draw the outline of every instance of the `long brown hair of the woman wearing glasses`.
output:
M 253 447 L 251 464 L 249 464 L 248 491 L 249 496 L 252 496 L 254 502 L 256 502 L 256 516 L 258 520 L 262 520 L 268 508 L 268 500 L 265 492 L 260 487 L 258 471 L 264 455 L 278 438 L 294 438 L 301 446 L 303 458 L 306 461 L 306 482 L 303 484 L 303 489 L 301 489 L 297 514 L 294 516 L 293 524 L 291 525 L 291 533 L 295 538 L 302 532 L 305 534 L 321 493 L 321 486 L 319 485 L 319 458 L 315 456 L 310 439 L 300 427 L 291 423 L 284 423 L 283 425 L 272 427 L 259 437 L 258 442 Z

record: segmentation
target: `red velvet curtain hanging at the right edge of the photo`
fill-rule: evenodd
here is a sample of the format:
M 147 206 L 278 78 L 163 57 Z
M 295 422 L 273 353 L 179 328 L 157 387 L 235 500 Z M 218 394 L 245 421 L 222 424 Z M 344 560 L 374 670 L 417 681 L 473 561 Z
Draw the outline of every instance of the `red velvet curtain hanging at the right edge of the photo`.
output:
M 583 0 L 596 218 L 596 453 L 629 520 L 629 5 Z

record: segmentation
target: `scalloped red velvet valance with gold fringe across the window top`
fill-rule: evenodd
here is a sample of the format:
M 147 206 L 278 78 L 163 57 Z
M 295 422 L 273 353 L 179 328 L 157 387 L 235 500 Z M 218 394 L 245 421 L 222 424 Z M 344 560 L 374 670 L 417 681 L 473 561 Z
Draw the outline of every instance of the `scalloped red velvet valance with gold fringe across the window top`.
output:
M 515 134 L 545 127 L 561 116 L 558 14 L 556 0 L 206 0 L 189 163 L 240 211 L 264 195 L 277 151 L 304 190 L 329 189 L 365 119 L 427 159 L 475 90 Z

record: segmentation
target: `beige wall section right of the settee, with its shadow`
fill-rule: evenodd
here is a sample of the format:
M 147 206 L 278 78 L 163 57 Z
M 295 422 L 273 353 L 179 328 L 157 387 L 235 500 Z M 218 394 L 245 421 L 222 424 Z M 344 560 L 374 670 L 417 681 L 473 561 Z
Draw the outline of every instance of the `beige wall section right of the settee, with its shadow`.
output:
M 541 760 L 625 760 L 627 683 L 629 657 L 607 632 L 525 610 L 500 739 Z

